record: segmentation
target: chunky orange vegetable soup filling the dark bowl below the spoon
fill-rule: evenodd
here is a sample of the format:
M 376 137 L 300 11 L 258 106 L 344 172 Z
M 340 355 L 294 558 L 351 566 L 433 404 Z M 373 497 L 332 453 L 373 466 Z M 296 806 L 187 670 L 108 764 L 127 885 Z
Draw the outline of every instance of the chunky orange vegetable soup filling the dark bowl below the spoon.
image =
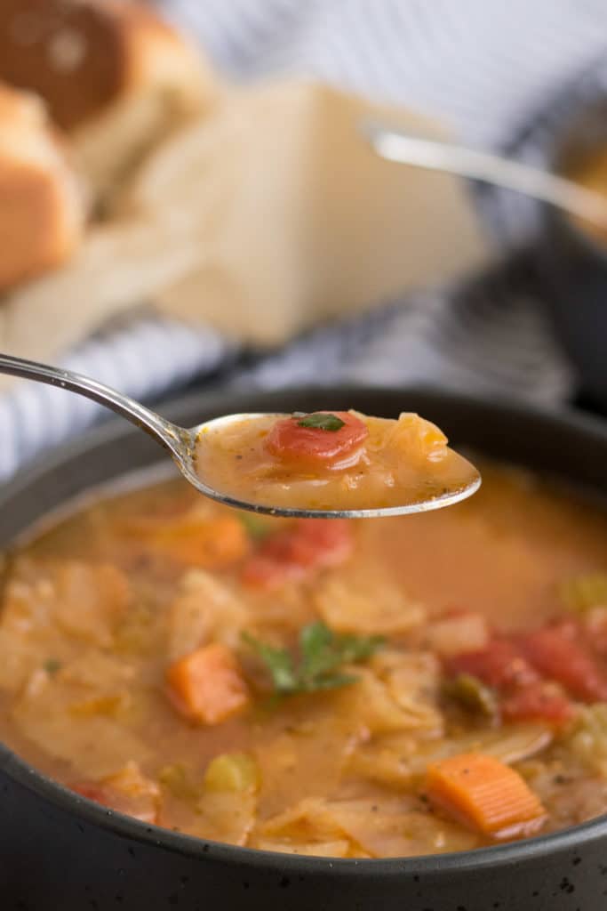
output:
M 607 810 L 607 519 L 482 466 L 449 509 L 251 517 L 169 482 L 4 561 L 0 736 L 147 823 L 340 857 Z

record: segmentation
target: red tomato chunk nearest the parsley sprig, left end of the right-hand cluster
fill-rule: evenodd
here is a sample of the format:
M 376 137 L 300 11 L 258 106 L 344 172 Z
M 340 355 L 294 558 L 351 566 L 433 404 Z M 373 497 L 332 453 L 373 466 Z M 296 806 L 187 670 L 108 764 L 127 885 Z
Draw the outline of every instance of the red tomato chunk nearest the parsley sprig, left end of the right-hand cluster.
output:
M 485 649 L 452 655 L 445 666 L 450 673 L 470 674 L 501 691 L 540 680 L 521 649 L 508 639 L 494 639 Z

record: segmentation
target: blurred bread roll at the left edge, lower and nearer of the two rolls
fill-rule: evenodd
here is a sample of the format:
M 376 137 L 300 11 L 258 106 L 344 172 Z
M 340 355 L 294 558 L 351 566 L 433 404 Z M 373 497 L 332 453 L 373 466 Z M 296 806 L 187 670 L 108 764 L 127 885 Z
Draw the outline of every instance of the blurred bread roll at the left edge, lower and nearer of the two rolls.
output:
M 0 85 L 0 292 L 76 249 L 84 194 L 35 96 Z

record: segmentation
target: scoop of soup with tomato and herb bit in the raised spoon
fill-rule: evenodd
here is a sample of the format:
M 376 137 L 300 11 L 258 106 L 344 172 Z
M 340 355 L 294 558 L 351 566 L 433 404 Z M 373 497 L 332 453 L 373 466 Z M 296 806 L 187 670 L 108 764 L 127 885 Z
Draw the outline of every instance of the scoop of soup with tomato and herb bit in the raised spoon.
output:
M 355 411 L 220 419 L 198 436 L 197 474 L 266 507 L 327 511 L 402 507 L 471 493 L 480 478 L 419 415 Z

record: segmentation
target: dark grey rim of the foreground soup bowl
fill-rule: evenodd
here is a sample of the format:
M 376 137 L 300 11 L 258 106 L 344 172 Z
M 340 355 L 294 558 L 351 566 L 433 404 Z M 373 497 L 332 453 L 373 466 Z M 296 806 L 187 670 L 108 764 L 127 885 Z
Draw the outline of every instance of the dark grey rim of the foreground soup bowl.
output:
M 342 396 L 355 394 L 387 394 L 389 396 L 436 397 L 450 404 L 472 404 L 479 408 L 495 408 L 502 414 L 522 417 L 531 422 L 560 426 L 565 431 L 589 435 L 598 442 L 607 443 L 607 422 L 592 415 L 581 414 L 572 408 L 560 411 L 547 411 L 522 401 L 513 402 L 498 396 L 469 394 L 441 389 L 431 384 L 411 384 L 403 388 L 383 385 L 341 384 L 324 387 L 326 394 Z M 301 388 L 285 387 L 279 390 L 248 390 L 244 388 L 217 389 L 203 393 L 189 393 L 167 399 L 159 405 L 163 413 L 187 411 L 196 404 L 201 412 L 212 410 L 218 403 L 230 402 L 235 398 L 281 396 L 298 393 L 300 395 L 321 395 L 320 385 Z M 19 496 L 40 476 L 59 469 L 66 461 L 75 456 L 86 456 L 100 445 L 117 442 L 137 432 L 136 428 L 125 425 L 118 418 L 107 421 L 78 435 L 76 439 L 56 446 L 47 454 L 38 457 L 30 466 L 25 466 L 5 485 L 0 486 L 0 514 L 3 504 L 14 496 Z M 126 476 L 128 472 L 124 473 Z M 185 855 L 198 860 L 215 860 L 225 865 L 243 865 L 251 870 L 274 871 L 279 875 L 326 875 L 331 877 L 374 877 L 401 876 L 403 874 L 450 875 L 469 871 L 508 866 L 512 864 L 531 863 L 533 860 L 551 855 L 552 852 L 572 853 L 579 856 L 584 845 L 592 844 L 602 838 L 607 839 L 607 814 L 598 816 L 585 823 L 570 826 L 559 832 L 537 835 L 521 841 L 497 844 L 476 848 L 471 851 L 451 852 L 449 854 L 414 855 L 387 858 L 339 858 L 320 857 L 318 855 L 289 855 L 274 851 L 263 851 L 258 848 L 241 847 L 207 841 L 194 835 L 174 832 L 159 825 L 143 823 L 132 816 L 118 813 L 88 800 L 86 797 L 71 791 L 65 785 L 55 782 L 46 774 L 13 752 L 0 741 L 0 771 L 4 772 L 15 783 L 35 793 L 49 804 L 56 806 L 68 815 L 76 816 L 80 821 L 116 834 L 126 840 L 162 848 L 172 854 Z

